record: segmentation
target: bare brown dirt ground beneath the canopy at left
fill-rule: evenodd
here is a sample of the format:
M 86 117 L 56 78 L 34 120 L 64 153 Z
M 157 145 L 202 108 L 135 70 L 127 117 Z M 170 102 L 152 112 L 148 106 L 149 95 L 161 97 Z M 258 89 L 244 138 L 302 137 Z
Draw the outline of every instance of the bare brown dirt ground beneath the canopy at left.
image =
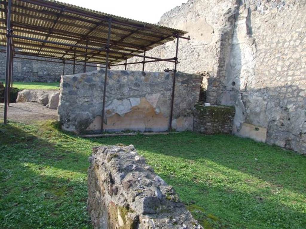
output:
M 3 120 L 3 114 L 4 103 L 0 103 L 0 120 Z M 8 120 L 25 124 L 48 119 L 56 120 L 57 118 L 57 110 L 51 110 L 41 104 L 33 102 L 10 103 L 7 112 Z

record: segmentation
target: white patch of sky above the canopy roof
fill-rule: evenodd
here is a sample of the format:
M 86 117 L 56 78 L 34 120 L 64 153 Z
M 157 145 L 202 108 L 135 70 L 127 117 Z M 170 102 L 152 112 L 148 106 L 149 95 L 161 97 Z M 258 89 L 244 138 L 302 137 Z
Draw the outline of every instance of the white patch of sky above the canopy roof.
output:
M 156 24 L 160 17 L 188 0 L 59 0 L 103 13 Z

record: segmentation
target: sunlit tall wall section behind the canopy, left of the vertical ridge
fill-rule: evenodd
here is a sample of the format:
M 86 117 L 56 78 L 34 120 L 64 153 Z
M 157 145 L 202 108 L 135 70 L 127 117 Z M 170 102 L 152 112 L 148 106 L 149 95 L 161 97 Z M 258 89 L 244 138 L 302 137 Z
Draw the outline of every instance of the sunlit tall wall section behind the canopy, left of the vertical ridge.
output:
M 178 71 L 198 74 L 209 72 L 211 77 L 224 74 L 226 54 L 230 44 L 235 23 L 237 1 L 229 0 L 189 0 L 187 3 L 166 12 L 160 19 L 160 25 L 188 31 L 185 36 L 191 40 L 180 39 L 177 65 Z M 175 41 L 160 45 L 146 52 L 147 56 L 175 57 Z M 133 57 L 128 63 L 143 61 Z M 145 71 L 163 71 L 173 69 L 173 63 L 154 62 L 145 64 Z M 122 70 L 124 66 L 113 67 Z M 131 64 L 128 70 L 142 70 L 142 64 Z

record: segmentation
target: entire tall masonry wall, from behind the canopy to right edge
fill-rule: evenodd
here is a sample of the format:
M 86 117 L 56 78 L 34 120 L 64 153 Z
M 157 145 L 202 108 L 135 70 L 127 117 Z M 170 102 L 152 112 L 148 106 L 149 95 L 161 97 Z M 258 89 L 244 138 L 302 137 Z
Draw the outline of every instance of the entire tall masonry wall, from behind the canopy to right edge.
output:
M 159 24 L 189 31 L 178 70 L 205 72 L 207 102 L 235 106 L 234 134 L 306 153 L 305 12 L 305 0 L 189 0 Z M 169 42 L 147 55 L 174 57 L 174 49 Z

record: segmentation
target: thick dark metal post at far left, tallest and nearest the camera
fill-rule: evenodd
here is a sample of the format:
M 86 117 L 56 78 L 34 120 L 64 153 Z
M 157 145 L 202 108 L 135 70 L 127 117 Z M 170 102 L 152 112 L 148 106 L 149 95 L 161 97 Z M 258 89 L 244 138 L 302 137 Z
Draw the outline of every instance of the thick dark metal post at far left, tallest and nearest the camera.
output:
M 3 123 L 7 123 L 7 103 L 9 98 L 9 69 L 10 69 L 10 52 L 11 52 L 11 7 L 12 7 L 12 0 L 8 0 L 7 5 L 7 23 L 6 23 L 6 74 L 5 74 L 5 92 L 4 92 L 4 121 Z

